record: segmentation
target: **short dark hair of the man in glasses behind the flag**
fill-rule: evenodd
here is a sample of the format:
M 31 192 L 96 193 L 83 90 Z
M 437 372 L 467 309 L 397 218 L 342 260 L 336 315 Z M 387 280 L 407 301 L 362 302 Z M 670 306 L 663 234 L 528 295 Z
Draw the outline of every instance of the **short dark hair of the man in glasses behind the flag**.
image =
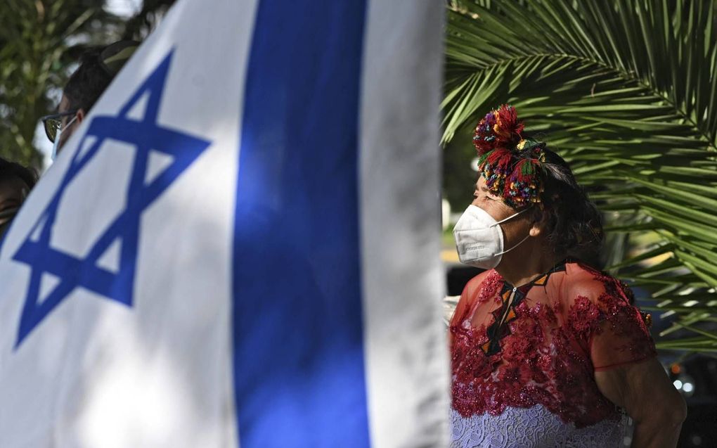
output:
M 67 81 L 63 93 L 67 100 L 70 100 L 70 110 L 82 109 L 89 113 L 112 82 L 113 77 L 100 63 L 100 51 L 101 49 L 91 49 L 82 54 L 80 67 L 77 67 Z

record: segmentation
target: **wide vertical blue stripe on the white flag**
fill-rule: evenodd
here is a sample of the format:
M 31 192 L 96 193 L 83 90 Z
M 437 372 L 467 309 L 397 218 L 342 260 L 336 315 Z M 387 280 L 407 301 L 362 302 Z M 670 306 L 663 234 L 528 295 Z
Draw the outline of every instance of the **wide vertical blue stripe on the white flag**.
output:
M 369 446 L 358 189 L 365 7 L 258 6 L 234 223 L 242 448 Z

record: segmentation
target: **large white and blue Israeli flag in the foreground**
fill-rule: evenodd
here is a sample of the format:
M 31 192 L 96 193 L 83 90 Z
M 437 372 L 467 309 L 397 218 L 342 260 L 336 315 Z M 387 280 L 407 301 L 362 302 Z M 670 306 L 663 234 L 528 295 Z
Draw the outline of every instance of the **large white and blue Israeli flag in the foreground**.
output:
M 440 447 L 442 2 L 181 0 L 0 248 L 0 447 Z

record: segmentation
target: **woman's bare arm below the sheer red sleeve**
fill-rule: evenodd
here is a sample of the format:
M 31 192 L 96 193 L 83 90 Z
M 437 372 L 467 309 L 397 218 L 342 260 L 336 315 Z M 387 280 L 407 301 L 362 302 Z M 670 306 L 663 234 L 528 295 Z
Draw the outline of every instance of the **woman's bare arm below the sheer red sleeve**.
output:
M 635 421 L 633 448 L 677 446 L 687 406 L 657 358 L 596 371 L 595 382 Z

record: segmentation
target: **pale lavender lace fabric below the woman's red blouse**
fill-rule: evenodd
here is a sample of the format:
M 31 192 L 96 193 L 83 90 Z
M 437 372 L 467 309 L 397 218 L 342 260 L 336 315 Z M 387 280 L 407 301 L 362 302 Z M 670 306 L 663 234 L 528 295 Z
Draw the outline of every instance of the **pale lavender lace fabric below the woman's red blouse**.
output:
M 503 414 L 465 418 L 451 409 L 451 448 L 618 448 L 624 447 L 629 426 L 621 421 L 600 421 L 577 429 L 541 405 L 528 409 L 506 408 Z

